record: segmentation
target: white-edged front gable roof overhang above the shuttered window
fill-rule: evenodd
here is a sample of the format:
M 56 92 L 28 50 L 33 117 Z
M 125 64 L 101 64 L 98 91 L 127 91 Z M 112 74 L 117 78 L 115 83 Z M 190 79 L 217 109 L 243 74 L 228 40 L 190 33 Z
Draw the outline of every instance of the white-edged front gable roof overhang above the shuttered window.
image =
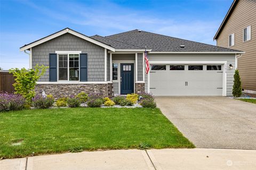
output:
M 30 44 L 24 45 L 24 46 L 20 47 L 20 51 L 29 49 L 31 47 L 35 47 L 35 46 L 37 46 L 39 44 L 45 43 L 46 41 L 49 41 L 49 40 L 53 39 L 53 38 L 59 37 L 59 36 L 65 34 L 65 33 L 71 33 L 72 35 L 75 35 L 75 36 L 77 36 L 79 38 L 82 38 L 84 40 L 87 40 L 87 41 L 89 41 L 89 42 L 91 42 L 93 44 L 97 44 L 97 45 L 99 45 L 101 47 L 107 48 L 107 49 L 115 52 L 115 48 L 111 47 L 109 44 L 102 43 L 99 40 L 95 40 L 95 39 L 93 39 L 91 37 L 85 36 L 82 33 L 74 31 L 74 30 L 72 30 L 70 28 L 65 28 L 65 29 L 60 30 L 58 32 L 55 32 L 55 33 L 53 33 L 53 34 L 51 34 L 49 36 L 46 36 L 46 37 L 41 38 L 39 40 L 36 40 L 36 41 L 34 41 L 34 42 L 30 43 Z

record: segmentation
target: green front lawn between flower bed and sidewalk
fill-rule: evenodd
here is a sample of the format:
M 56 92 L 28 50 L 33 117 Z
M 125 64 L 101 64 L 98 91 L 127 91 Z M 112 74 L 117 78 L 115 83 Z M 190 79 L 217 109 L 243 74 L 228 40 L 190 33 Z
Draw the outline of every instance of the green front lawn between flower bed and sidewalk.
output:
M 56 108 L 0 113 L 0 158 L 126 148 L 194 148 L 158 108 Z M 13 146 L 13 143 L 21 145 Z

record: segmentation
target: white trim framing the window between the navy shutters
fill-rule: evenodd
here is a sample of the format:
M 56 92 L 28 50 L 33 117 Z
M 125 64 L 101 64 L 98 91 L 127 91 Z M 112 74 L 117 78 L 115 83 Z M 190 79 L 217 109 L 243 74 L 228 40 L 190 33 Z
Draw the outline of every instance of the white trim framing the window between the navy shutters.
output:
M 82 51 L 55 51 L 55 53 L 57 53 L 57 82 L 74 82 L 74 83 L 78 83 L 80 82 L 80 54 L 82 53 Z M 78 54 L 78 58 L 79 58 L 79 65 L 78 65 L 78 81 L 74 81 L 74 80 L 69 80 L 69 54 Z M 59 80 L 59 55 L 68 55 L 68 80 Z

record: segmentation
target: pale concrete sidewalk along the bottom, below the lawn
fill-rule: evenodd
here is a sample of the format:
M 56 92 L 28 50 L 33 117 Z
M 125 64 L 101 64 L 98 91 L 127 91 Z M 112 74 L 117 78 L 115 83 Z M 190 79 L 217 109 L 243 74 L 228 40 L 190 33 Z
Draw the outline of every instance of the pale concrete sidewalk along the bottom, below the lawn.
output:
M 84 151 L 0 160 L 1 170 L 255 169 L 256 150 L 150 149 Z

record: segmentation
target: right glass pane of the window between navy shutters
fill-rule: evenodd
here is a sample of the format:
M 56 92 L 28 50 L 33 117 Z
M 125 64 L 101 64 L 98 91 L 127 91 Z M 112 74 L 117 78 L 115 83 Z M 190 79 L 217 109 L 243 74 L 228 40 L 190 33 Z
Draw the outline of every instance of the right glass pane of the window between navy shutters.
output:
M 69 80 L 79 80 L 79 55 L 69 54 Z

